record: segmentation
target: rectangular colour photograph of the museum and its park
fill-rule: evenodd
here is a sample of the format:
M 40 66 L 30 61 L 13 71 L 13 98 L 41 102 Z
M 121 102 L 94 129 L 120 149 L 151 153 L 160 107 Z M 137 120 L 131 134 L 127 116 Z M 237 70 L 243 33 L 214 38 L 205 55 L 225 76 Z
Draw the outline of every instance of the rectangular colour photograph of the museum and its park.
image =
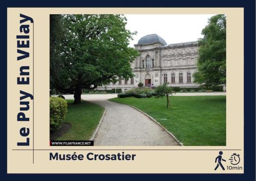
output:
M 225 85 L 224 14 L 50 16 L 52 145 L 225 146 Z

